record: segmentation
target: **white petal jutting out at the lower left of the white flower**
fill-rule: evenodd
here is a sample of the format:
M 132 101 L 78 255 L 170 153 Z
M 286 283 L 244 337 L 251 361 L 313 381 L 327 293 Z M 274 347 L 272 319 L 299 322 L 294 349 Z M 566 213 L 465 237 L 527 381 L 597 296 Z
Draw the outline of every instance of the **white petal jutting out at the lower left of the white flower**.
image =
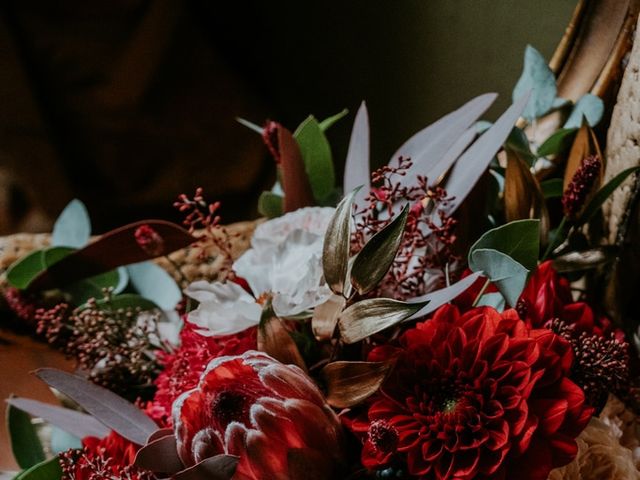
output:
M 199 302 L 188 320 L 205 336 L 232 335 L 258 325 L 262 307 L 235 283 L 193 282 L 185 295 Z

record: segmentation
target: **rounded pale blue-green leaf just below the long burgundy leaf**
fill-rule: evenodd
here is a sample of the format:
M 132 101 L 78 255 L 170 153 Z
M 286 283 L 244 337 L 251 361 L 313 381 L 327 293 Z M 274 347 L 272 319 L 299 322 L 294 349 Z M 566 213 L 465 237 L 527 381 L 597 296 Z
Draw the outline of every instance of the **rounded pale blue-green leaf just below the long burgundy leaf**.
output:
M 173 310 L 182 300 L 182 291 L 176 281 L 155 263 L 134 263 L 127 266 L 127 272 L 133 288 L 162 310 Z

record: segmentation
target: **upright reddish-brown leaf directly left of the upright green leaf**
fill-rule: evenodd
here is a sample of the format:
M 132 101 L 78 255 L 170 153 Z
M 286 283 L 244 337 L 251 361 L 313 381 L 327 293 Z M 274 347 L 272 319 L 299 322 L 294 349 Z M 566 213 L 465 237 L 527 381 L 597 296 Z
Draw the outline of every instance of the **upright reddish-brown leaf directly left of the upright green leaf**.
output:
M 302 207 L 314 205 L 315 201 L 304 168 L 302 155 L 291 132 L 278 124 L 278 147 L 284 190 L 284 211 L 292 212 Z

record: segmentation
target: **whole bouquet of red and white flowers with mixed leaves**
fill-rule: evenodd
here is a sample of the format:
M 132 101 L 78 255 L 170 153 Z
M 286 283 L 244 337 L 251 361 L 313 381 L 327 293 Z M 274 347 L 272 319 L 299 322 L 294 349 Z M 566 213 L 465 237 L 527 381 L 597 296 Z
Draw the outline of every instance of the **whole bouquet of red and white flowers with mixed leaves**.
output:
M 7 399 L 15 478 L 640 478 L 635 337 L 594 293 L 617 252 L 593 227 L 636 169 L 602 181 L 602 101 L 556 98 L 532 48 L 479 122 L 494 99 L 373 174 L 362 104 L 343 189 L 325 132 L 344 112 L 241 120 L 278 170 L 243 252 L 200 189 L 176 202 L 188 230 L 94 239 L 73 201 L 5 273 L 16 322 L 78 366 L 35 372 L 60 406 Z M 530 140 L 551 111 L 562 128 Z

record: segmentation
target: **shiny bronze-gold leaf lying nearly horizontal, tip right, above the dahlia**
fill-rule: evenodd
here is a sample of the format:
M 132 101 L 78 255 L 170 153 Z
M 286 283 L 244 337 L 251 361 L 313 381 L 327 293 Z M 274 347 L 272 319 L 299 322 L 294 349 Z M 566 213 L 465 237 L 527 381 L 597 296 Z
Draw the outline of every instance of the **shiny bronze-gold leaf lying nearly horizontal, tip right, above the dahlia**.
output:
M 391 298 L 362 300 L 340 315 L 340 335 L 345 343 L 359 342 L 406 320 L 425 305 L 426 302 L 405 303 Z

